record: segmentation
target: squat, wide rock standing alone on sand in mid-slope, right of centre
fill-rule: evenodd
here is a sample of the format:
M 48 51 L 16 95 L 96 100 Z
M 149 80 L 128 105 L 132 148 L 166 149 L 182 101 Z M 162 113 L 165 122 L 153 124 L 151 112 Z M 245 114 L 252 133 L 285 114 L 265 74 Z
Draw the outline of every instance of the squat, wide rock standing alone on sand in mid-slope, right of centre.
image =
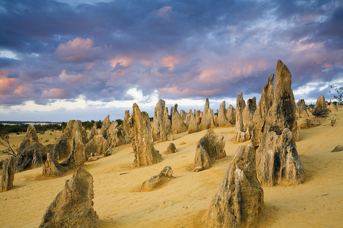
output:
M 213 129 L 212 129 L 213 130 Z M 194 157 L 194 167 L 208 169 L 217 160 L 226 156 L 224 136 L 207 132 L 198 142 Z M 198 169 L 194 169 L 196 172 Z

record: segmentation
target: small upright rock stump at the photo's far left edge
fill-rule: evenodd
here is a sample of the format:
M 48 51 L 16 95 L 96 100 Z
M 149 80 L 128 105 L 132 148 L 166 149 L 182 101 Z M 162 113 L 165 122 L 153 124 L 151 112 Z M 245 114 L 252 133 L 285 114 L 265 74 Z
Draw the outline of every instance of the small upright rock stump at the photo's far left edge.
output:
M 15 173 L 15 157 L 11 155 L 2 162 L 2 174 L 0 181 L 0 192 L 5 192 L 13 187 Z

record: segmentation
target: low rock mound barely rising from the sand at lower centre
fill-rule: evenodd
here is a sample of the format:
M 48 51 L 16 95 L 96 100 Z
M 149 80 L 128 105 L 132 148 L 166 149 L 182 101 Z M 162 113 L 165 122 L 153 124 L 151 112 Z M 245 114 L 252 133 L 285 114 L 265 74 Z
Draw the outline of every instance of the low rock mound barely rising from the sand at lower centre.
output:
M 150 177 L 149 179 L 145 180 L 140 186 L 135 186 L 129 191 L 153 191 L 161 187 L 161 185 L 170 180 L 170 178 L 174 178 L 173 170 L 171 170 L 170 166 L 166 166 L 159 174 Z

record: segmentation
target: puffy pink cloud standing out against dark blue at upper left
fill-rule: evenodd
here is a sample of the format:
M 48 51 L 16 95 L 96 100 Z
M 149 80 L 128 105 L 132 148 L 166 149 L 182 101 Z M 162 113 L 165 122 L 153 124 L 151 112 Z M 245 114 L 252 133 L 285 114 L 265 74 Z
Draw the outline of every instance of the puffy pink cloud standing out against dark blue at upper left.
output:
M 92 61 L 98 58 L 103 51 L 102 48 L 93 46 L 93 39 L 76 37 L 66 43 L 60 43 L 55 50 L 55 54 L 62 62 L 82 63 Z

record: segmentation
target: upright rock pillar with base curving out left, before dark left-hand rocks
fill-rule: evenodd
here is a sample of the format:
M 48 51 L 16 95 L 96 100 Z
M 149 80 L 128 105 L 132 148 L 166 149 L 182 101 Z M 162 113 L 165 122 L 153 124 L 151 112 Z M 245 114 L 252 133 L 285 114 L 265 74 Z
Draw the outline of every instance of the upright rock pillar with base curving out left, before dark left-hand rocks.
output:
M 67 124 L 68 126 L 68 124 Z M 66 128 L 67 129 L 67 128 Z M 65 130 L 64 130 L 65 132 Z M 74 122 L 74 127 L 72 130 L 72 144 L 71 150 L 68 158 L 64 160 L 61 164 L 65 167 L 75 167 L 80 166 L 85 162 L 85 150 L 82 142 L 82 123 L 79 120 Z

